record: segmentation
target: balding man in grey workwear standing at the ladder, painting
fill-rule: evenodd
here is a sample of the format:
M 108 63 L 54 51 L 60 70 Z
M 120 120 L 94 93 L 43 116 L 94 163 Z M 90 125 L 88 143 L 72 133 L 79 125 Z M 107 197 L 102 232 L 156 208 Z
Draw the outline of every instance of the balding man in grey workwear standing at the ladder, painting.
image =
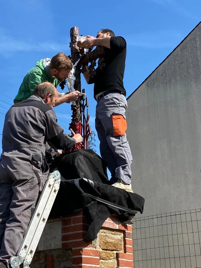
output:
M 69 150 L 82 142 L 57 124 L 56 88 L 49 82 L 35 87 L 33 95 L 6 113 L 0 158 L 0 268 L 15 256 L 27 230 L 39 192 L 49 173 L 45 144 Z

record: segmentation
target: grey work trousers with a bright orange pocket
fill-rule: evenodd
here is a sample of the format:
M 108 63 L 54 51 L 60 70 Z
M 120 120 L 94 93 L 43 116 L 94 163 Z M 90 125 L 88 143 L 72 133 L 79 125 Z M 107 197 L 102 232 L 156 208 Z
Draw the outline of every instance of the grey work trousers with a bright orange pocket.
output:
M 100 140 L 101 157 L 111 173 L 111 181 L 118 178 L 131 184 L 132 155 L 126 139 L 125 111 L 127 101 L 123 94 L 110 93 L 96 105 L 95 127 Z

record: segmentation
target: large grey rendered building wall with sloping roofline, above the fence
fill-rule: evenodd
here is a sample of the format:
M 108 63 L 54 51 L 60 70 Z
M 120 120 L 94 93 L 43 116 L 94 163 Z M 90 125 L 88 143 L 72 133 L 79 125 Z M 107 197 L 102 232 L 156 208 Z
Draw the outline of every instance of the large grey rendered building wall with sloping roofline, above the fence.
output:
M 145 198 L 142 216 L 200 208 L 201 24 L 127 101 L 132 188 Z

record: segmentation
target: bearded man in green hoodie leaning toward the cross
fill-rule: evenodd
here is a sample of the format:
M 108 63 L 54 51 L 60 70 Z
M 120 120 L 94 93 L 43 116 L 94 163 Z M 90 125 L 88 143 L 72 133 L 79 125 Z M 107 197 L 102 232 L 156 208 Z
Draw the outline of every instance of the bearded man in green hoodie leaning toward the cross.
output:
M 14 104 L 20 101 L 28 99 L 35 86 L 45 81 L 50 82 L 57 88 L 61 81 L 64 81 L 72 70 L 72 62 L 68 56 L 64 53 L 58 53 L 53 58 L 41 59 L 36 62 L 36 66 L 33 67 L 24 77 L 17 96 L 14 99 Z M 65 96 L 58 98 L 55 102 L 55 106 L 61 103 L 70 101 L 76 101 L 79 97 L 79 91 L 73 91 Z

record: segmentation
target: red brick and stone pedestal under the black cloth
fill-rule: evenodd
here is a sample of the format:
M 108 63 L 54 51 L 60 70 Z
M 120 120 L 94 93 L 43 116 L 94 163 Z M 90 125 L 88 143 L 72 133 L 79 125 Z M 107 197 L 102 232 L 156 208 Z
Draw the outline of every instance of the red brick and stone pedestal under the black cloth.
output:
M 87 229 L 82 212 L 48 221 L 31 267 L 134 267 L 131 225 L 111 216 L 90 243 L 83 241 Z

